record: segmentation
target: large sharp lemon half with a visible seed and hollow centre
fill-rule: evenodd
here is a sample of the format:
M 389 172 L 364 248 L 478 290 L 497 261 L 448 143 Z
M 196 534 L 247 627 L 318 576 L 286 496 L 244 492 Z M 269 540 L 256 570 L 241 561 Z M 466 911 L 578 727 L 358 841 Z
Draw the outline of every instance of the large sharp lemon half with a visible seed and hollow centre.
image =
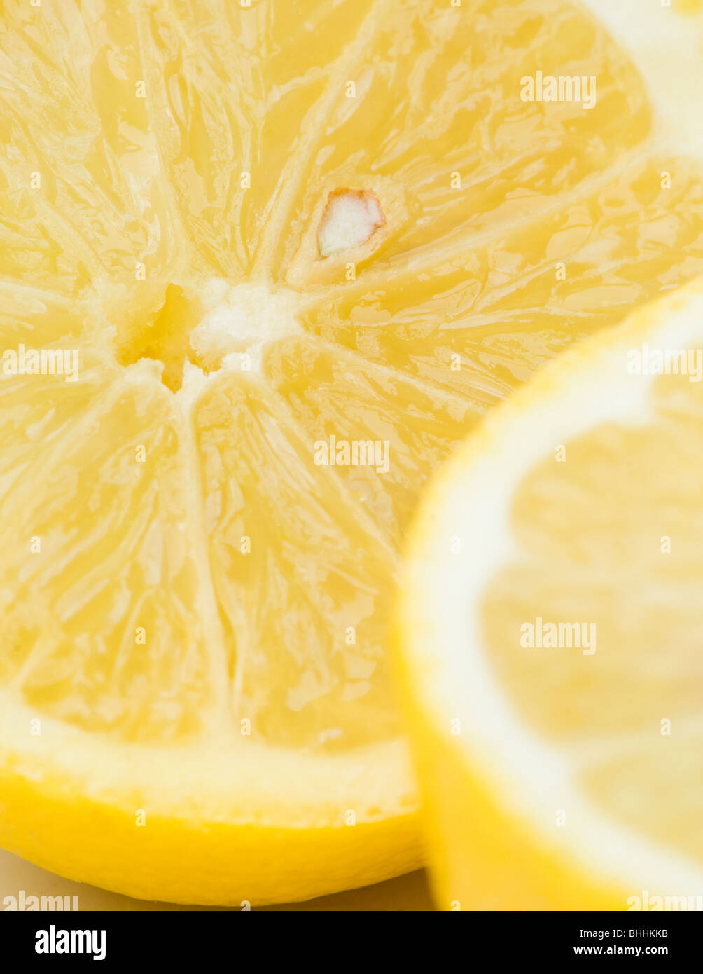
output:
M 409 518 L 703 273 L 695 99 L 561 0 L 18 0 L 0 52 L 0 843 L 178 902 L 417 866 Z

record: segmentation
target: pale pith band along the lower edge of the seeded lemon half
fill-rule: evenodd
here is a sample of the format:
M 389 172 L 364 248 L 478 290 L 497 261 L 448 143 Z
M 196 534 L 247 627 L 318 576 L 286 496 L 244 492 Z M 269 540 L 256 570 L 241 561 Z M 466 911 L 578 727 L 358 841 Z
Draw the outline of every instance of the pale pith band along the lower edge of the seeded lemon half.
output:
M 94 736 L 42 715 L 42 733 L 29 732 L 36 710 L 11 697 L 0 708 L 0 762 L 27 780 L 59 786 L 94 802 L 111 804 L 139 794 L 153 815 L 193 815 L 230 824 L 313 828 L 344 827 L 351 809 L 357 824 L 415 810 L 416 790 L 402 740 L 359 747 L 342 755 L 295 753 L 230 731 L 173 752 L 151 744 L 101 741 L 95 763 Z M 18 728 L 26 728 L 21 748 Z M 4 753 L 7 749 L 7 753 Z M 323 796 L 323 799 L 320 799 Z M 129 802 L 129 799 L 128 799 Z

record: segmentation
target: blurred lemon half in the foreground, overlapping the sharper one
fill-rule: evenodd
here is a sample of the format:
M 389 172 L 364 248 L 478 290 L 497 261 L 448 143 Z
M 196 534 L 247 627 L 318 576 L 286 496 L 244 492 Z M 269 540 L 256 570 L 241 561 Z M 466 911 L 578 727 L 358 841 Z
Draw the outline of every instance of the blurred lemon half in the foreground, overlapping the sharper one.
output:
M 414 530 L 398 618 L 441 903 L 700 909 L 703 283 L 557 364 Z

